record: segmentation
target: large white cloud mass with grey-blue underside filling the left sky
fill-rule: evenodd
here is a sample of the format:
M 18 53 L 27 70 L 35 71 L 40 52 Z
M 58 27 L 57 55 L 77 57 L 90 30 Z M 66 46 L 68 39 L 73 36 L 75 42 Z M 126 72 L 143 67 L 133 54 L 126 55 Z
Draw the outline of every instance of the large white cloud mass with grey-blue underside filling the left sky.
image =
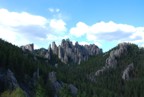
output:
M 59 12 L 59 9 L 55 11 Z M 66 23 L 62 19 L 47 19 L 28 12 L 0 9 L 0 38 L 18 46 L 31 42 L 46 42 L 48 35 L 59 35 L 66 30 Z

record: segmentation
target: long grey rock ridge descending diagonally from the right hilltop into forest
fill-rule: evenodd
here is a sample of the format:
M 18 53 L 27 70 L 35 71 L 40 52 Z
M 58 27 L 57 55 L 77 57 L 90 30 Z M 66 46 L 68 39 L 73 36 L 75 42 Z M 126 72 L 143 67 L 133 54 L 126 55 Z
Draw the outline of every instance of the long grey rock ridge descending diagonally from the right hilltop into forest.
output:
M 127 53 L 127 47 L 129 45 L 129 43 L 121 43 L 118 45 L 117 49 L 112 50 L 109 57 L 106 59 L 105 66 L 98 70 L 95 75 L 98 76 L 109 68 L 115 68 L 117 66 L 116 58 L 120 58 L 124 53 Z

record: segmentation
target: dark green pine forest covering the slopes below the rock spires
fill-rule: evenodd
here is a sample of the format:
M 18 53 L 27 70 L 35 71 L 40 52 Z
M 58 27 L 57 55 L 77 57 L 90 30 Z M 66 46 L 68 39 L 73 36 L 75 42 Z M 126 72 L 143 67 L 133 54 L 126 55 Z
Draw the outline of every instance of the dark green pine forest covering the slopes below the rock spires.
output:
M 127 44 L 111 68 L 106 60 L 119 45 L 81 64 L 65 64 L 53 53 L 47 59 L 0 39 L 0 97 L 144 97 L 144 48 Z

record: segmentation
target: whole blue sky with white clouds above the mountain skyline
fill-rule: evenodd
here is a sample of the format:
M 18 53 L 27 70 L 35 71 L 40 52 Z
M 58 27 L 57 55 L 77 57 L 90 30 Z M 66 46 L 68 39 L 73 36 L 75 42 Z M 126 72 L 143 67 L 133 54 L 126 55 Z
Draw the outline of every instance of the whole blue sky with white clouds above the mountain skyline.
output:
M 62 39 L 108 51 L 144 46 L 144 0 L 0 0 L 0 38 L 48 48 Z

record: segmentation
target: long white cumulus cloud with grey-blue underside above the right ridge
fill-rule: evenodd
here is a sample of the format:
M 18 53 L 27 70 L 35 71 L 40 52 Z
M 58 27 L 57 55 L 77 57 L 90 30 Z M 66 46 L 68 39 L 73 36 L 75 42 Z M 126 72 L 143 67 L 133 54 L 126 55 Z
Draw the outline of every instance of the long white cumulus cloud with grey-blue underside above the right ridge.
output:
M 70 29 L 70 34 L 75 37 L 86 36 L 88 41 L 118 41 L 133 42 L 142 44 L 144 41 L 144 27 L 134 27 L 127 24 L 118 24 L 113 21 L 98 22 L 87 25 L 78 22 L 75 27 Z

